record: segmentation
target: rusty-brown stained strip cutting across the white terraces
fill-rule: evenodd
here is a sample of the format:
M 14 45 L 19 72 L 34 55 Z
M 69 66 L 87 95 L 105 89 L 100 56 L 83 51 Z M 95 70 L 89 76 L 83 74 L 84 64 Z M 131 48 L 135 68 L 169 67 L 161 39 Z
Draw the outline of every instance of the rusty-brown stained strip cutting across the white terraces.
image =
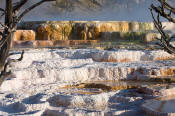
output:
M 158 88 L 169 87 L 169 85 L 174 82 L 175 79 L 173 78 L 150 78 L 147 81 L 94 81 L 92 83 L 87 82 L 77 85 L 66 85 L 62 87 L 62 89 L 72 89 L 72 91 L 70 90 L 71 93 L 84 95 L 93 95 L 126 89 L 136 89 L 139 93 L 159 95 Z

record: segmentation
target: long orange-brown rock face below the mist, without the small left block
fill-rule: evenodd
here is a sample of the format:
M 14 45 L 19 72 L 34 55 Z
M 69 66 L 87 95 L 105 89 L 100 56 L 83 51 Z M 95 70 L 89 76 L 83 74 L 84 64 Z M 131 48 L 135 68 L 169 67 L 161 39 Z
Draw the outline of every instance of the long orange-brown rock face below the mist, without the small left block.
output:
M 129 35 L 140 36 L 137 33 L 139 30 L 153 29 L 152 23 L 97 21 L 51 21 L 39 23 L 35 27 L 36 40 L 116 40 L 125 36 L 131 38 Z M 154 37 L 146 34 L 144 41 L 152 41 Z

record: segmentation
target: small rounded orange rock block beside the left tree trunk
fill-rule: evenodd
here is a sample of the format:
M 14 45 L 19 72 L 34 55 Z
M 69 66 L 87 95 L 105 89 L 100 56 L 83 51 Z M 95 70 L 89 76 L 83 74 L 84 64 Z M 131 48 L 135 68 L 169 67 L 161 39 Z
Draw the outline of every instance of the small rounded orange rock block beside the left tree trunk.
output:
M 33 30 L 17 30 L 14 33 L 14 41 L 33 41 L 35 40 L 35 32 Z

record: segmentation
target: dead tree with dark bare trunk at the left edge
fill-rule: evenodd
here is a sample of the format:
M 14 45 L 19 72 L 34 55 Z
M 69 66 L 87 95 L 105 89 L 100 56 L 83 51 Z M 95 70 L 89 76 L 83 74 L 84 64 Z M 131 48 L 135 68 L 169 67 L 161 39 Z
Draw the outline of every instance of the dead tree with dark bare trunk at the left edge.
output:
M 17 29 L 18 23 L 32 9 L 44 2 L 55 0 L 40 0 L 39 2 L 34 3 L 32 6 L 24 9 L 21 13 L 19 11 L 29 0 L 20 0 L 15 3 L 14 0 L 5 1 L 5 8 L 0 8 L 0 27 L 2 28 L 2 31 L 0 31 L 0 85 L 4 78 L 9 74 L 9 72 L 7 72 L 8 65 L 11 62 L 21 61 L 23 58 L 24 51 L 21 53 L 21 57 L 19 59 L 11 59 L 7 61 L 11 40 L 14 32 Z M 2 21 L 2 18 L 4 21 Z

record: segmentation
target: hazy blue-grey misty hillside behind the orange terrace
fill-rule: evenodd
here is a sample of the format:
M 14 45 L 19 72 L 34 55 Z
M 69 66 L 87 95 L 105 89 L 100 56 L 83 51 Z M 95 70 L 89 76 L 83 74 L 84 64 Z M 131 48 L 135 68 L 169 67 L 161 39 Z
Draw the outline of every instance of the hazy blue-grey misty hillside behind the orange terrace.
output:
M 4 6 L 3 1 L 5 0 L 0 0 L 1 6 Z M 30 0 L 26 7 L 36 1 L 38 0 Z M 36 8 L 25 20 L 152 21 L 148 8 L 153 1 L 57 0 L 57 3 L 45 3 Z

